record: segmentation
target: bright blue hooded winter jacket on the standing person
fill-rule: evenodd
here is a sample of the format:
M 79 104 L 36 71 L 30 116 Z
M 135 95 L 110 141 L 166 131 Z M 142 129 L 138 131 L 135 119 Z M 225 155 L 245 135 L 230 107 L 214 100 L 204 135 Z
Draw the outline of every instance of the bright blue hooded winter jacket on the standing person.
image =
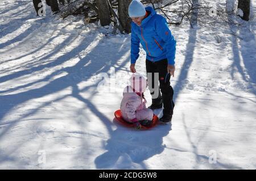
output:
M 168 64 L 175 64 L 176 41 L 168 28 L 166 19 L 156 14 L 152 7 L 141 26 L 131 22 L 131 64 L 139 57 L 139 43 L 147 53 L 147 60 L 159 61 L 167 58 Z

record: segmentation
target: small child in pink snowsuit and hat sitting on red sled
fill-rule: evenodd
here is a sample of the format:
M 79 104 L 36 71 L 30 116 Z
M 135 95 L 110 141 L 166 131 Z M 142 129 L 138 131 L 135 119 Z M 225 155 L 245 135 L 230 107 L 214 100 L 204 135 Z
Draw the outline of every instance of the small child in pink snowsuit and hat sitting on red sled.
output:
M 152 121 L 154 113 L 146 108 L 146 99 L 143 92 L 146 91 L 147 80 L 142 75 L 133 74 L 130 78 L 130 86 L 123 90 L 121 113 L 123 119 L 133 123 L 134 127 L 141 129 L 140 120 Z

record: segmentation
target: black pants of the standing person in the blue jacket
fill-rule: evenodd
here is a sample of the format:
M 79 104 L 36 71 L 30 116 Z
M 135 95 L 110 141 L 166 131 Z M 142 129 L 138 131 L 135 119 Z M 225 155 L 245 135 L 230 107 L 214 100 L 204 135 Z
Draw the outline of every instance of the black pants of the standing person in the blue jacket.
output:
M 148 81 L 148 88 L 150 89 L 150 94 L 154 95 L 154 90 L 158 90 L 159 95 L 154 96 L 155 99 L 152 99 L 152 102 L 159 102 L 161 99 L 163 100 L 163 114 L 169 115 L 173 113 L 174 110 L 174 102 L 172 100 L 174 96 L 174 90 L 172 89 L 172 86 L 170 84 L 170 73 L 167 72 L 167 66 L 168 61 L 167 59 L 152 62 L 149 60 L 146 60 L 146 70 L 147 70 L 147 81 Z M 148 73 L 152 74 L 152 77 L 149 76 Z M 155 75 L 154 73 L 158 73 L 158 83 L 155 85 L 154 79 Z M 162 95 L 160 94 L 160 91 L 162 92 Z M 156 92 L 157 93 L 157 92 Z

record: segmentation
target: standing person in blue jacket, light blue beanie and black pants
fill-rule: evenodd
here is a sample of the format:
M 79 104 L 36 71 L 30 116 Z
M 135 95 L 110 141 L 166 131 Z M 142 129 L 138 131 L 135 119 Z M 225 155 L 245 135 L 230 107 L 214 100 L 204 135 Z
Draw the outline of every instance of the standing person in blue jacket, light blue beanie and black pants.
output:
M 152 105 L 152 110 L 163 107 L 163 123 L 172 119 L 174 90 L 170 85 L 171 75 L 174 77 L 176 41 L 168 28 L 166 19 L 156 14 L 152 7 L 144 7 L 138 0 L 129 5 L 131 22 L 131 72 L 135 73 L 135 63 L 139 57 L 139 44 L 146 51 L 146 70 Z M 151 74 L 150 74 L 151 73 Z M 154 82 L 158 73 L 160 86 Z M 152 75 L 152 77 L 151 77 Z M 162 92 L 160 94 L 159 88 Z M 155 92 L 157 90 L 157 92 Z M 158 95 L 155 96 L 154 93 Z M 154 95 L 154 96 L 153 96 Z

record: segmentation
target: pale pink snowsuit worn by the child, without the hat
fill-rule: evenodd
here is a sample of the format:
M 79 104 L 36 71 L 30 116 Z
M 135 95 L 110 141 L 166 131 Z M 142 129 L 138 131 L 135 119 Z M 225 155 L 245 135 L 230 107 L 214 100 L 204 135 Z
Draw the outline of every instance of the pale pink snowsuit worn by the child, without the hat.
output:
M 136 94 L 130 86 L 125 87 L 123 91 L 120 109 L 123 119 L 129 122 L 132 122 L 134 118 L 152 120 L 154 115 L 151 109 L 146 108 L 146 100 Z

